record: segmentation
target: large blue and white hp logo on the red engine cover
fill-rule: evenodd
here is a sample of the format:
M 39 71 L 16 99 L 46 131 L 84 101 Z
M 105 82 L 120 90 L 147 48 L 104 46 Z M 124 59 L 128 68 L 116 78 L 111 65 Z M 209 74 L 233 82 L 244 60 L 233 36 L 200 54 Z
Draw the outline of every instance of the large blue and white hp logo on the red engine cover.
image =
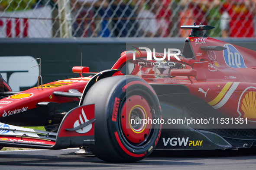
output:
M 232 68 L 246 68 L 242 55 L 232 44 L 224 44 L 223 56 L 226 64 Z

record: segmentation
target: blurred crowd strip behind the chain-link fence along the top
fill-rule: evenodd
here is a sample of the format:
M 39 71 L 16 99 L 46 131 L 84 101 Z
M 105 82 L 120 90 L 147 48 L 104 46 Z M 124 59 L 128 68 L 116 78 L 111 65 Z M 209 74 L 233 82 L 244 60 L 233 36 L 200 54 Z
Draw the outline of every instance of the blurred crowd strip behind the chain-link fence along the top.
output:
M 255 38 L 256 0 L 0 0 L 0 38 Z

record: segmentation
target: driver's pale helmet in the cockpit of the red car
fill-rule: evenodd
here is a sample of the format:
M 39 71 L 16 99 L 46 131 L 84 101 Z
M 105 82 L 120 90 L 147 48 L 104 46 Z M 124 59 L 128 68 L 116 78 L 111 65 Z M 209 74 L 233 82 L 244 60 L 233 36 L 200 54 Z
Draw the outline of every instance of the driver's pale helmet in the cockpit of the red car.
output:
M 181 55 L 181 57 L 183 57 Z M 172 78 L 175 76 L 171 76 L 171 69 L 184 69 L 186 67 L 185 64 L 176 63 L 172 61 L 162 60 L 158 62 L 159 64 L 155 66 L 155 77 L 156 78 Z M 166 76 L 165 76 L 166 75 Z

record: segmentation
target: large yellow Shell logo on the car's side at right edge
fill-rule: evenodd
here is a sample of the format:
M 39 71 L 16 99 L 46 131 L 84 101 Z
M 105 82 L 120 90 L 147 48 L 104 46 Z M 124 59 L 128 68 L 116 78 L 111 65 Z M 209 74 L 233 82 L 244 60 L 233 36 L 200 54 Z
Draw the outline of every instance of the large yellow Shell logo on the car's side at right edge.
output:
M 240 100 L 240 111 L 244 113 L 243 117 L 248 119 L 256 118 L 256 91 L 247 91 Z

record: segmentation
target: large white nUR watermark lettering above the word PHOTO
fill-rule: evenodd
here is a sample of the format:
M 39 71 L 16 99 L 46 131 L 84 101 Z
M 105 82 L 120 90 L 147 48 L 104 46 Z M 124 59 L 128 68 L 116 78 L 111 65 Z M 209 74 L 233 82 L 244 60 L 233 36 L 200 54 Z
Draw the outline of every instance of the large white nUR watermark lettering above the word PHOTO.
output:
M 142 53 L 139 49 L 146 50 L 147 60 L 152 60 L 152 51 L 148 47 L 139 47 L 139 48 L 133 47 L 133 50 L 135 50 L 133 52 L 133 60 L 136 60 L 136 55 L 135 55 L 136 53 L 138 53 L 139 56 L 142 55 Z M 173 51 L 178 51 L 178 53 L 173 53 Z M 181 59 L 178 57 L 178 55 L 180 55 L 180 54 L 181 54 L 181 50 L 176 49 L 176 48 L 168 48 L 167 50 L 166 50 L 166 48 L 164 48 L 163 54 L 156 53 L 156 48 L 153 48 L 153 57 L 155 60 L 165 60 L 165 58 L 167 56 L 168 60 L 170 60 L 170 57 L 175 57 L 178 61 L 181 61 Z M 156 56 L 158 56 L 158 57 L 156 57 Z M 162 57 L 162 58 L 160 58 L 160 57 Z

